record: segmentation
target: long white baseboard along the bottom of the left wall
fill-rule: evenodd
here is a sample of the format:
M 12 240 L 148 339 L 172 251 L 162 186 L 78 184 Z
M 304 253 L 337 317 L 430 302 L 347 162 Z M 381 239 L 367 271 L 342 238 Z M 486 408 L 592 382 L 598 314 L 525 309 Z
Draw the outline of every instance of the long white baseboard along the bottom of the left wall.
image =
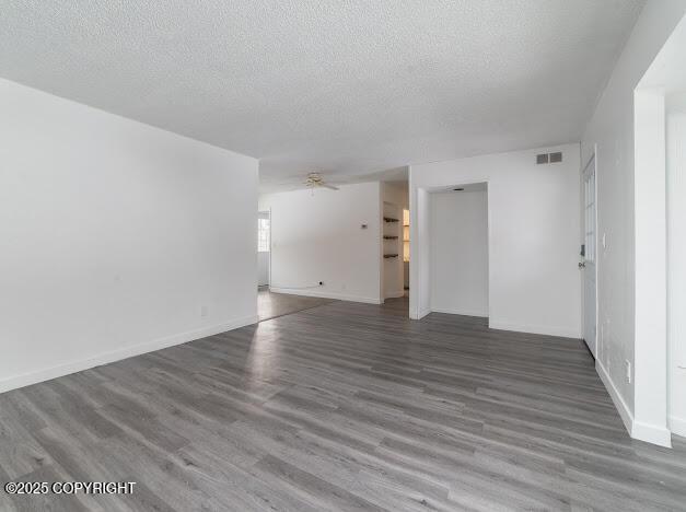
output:
M 237 329 L 246 325 L 256 324 L 259 318 L 255 316 L 245 316 L 242 318 L 233 318 L 231 321 L 223 322 L 221 324 L 202 327 L 196 330 L 189 330 L 186 333 L 179 333 L 172 336 L 165 336 L 163 338 L 153 339 L 151 341 L 144 341 L 130 347 L 125 347 L 117 350 L 111 350 L 97 356 L 80 359 L 56 366 L 44 368 L 40 370 L 23 373 L 21 375 L 14 375 L 8 379 L 0 380 L 0 393 L 15 389 L 18 387 L 30 386 L 43 381 L 49 381 L 70 373 L 81 372 L 90 368 L 100 366 L 103 364 L 120 361 L 121 359 L 131 358 L 133 356 L 140 356 L 141 353 L 152 352 L 175 345 L 185 344 L 195 339 L 206 338 L 226 330 Z

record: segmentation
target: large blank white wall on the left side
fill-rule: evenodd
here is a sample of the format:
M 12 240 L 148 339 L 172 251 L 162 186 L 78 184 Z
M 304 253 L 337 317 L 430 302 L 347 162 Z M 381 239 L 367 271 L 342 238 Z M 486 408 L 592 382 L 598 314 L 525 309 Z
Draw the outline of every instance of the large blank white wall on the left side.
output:
M 256 160 L 7 80 L 0 112 L 0 391 L 256 319 Z

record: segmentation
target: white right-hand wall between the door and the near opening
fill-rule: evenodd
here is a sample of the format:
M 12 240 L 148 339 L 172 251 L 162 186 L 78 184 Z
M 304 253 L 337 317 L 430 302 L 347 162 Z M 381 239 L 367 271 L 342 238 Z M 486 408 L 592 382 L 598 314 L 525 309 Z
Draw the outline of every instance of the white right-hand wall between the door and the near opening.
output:
M 582 137 L 582 162 L 597 146 L 598 350 L 596 368 L 627 429 L 646 441 L 664 440 L 633 430 L 635 383 L 635 125 L 633 94 L 639 81 L 686 11 L 683 0 L 649 1 L 615 66 Z M 650 386 L 650 377 L 646 381 Z M 646 395 L 650 396 L 650 392 Z

